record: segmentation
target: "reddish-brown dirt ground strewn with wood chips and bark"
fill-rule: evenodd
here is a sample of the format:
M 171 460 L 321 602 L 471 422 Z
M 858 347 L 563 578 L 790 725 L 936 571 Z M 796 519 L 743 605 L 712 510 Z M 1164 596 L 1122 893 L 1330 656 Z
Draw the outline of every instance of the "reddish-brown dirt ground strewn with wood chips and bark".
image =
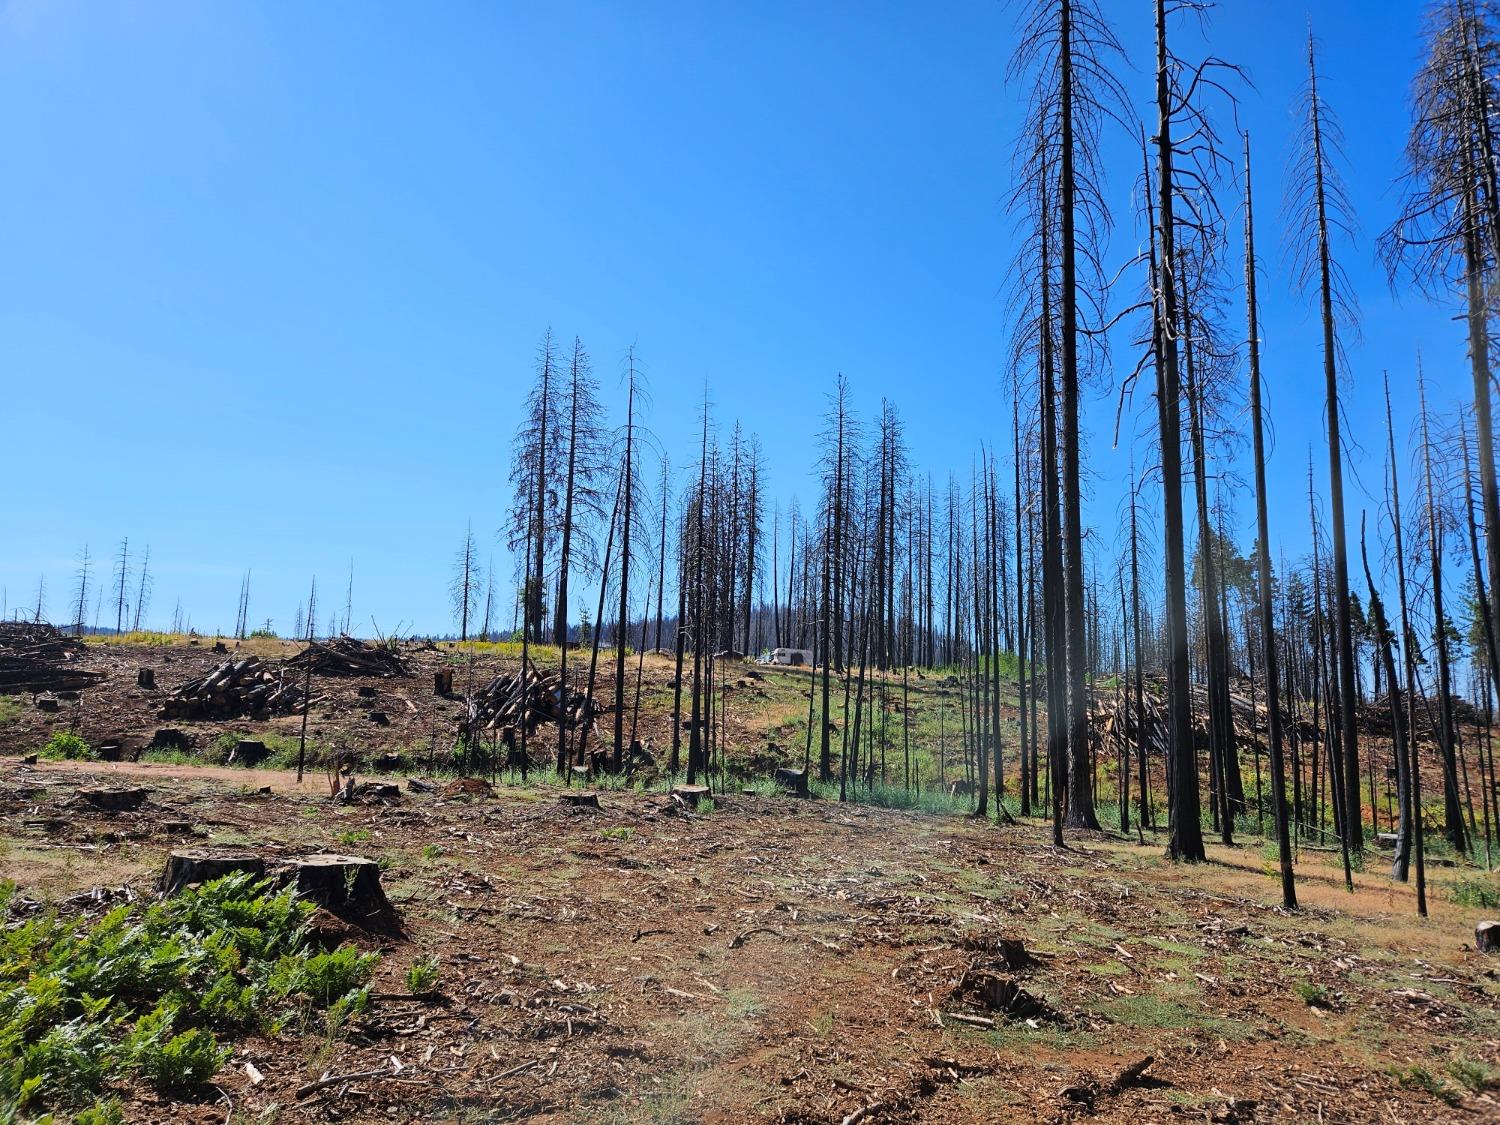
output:
M 298 784 L 280 770 L 21 762 L 69 726 L 130 758 L 166 724 L 135 668 L 154 666 L 166 690 L 224 658 L 112 648 L 90 646 L 110 678 L 72 714 L 10 698 L 0 878 L 93 914 L 154 894 L 183 843 L 334 850 L 381 862 L 402 920 L 399 936 L 348 932 L 384 957 L 376 1002 L 344 1036 L 237 1042 L 198 1102 L 124 1090 L 130 1120 L 1500 1120 L 1486 1084 L 1500 1074 L 1500 957 L 1474 952 L 1485 912 L 1452 902 L 1444 868 L 1419 921 L 1378 861 L 1350 894 L 1332 854 L 1305 849 L 1304 909 L 1286 915 L 1258 838 L 1178 867 L 1149 832 L 1054 849 L 1041 822 L 734 786 L 699 812 L 633 790 L 572 807 L 546 782 L 344 806 L 321 771 Z M 322 681 L 316 742 L 420 766 L 462 706 L 432 696 L 432 669 L 456 658 Z M 648 698 L 669 672 L 646 660 Z M 795 734 L 800 682 L 742 684 L 732 734 Z M 370 686 L 374 699 L 358 694 Z M 388 726 L 368 720 L 376 708 Z M 645 735 L 660 740 L 662 723 L 646 706 Z M 172 726 L 207 746 L 296 724 Z M 132 813 L 74 800 L 100 782 L 148 800 Z M 438 994 L 412 998 L 405 969 L 423 957 L 440 962 Z M 297 1096 L 369 1071 L 382 1076 Z

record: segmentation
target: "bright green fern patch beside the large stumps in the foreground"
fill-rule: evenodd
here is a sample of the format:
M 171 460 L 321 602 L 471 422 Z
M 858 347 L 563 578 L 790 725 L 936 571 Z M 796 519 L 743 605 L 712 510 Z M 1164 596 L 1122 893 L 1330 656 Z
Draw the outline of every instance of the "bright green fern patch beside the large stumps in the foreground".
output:
M 240 873 L 92 924 L 50 912 L 0 932 L 0 1122 L 132 1076 L 192 1090 L 230 1056 L 219 1032 L 276 1035 L 322 1014 L 336 1035 L 369 1002 L 376 954 L 310 948 L 312 909 Z M 92 1113 L 80 1119 L 111 1119 L 98 1116 L 108 1101 Z

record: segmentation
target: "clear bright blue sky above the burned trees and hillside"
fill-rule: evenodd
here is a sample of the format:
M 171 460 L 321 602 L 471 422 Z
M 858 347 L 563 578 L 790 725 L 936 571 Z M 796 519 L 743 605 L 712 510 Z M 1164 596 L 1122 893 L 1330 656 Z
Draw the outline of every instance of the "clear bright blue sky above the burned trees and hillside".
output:
M 1150 4 L 1104 8 L 1144 111 Z M 1377 490 L 1382 368 L 1402 418 L 1418 346 L 1440 408 L 1468 393 L 1450 310 L 1396 302 L 1374 262 L 1419 4 L 1306 16 L 1360 222 L 1341 250 L 1364 312 L 1346 410 Z M 1256 84 L 1274 534 L 1296 555 L 1323 396 L 1275 219 L 1304 9 L 1232 0 L 1210 36 Z M 250 567 L 252 618 L 288 628 L 312 574 L 342 603 L 352 556 L 358 627 L 446 630 L 465 522 L 488 544 L 508 506 L 548 326 L 584 338 L 612 399 L 638 346 L 680 464 L 706 381 L 726 426 L 760 434 L 783 502 L 810 496 L 838 370 L 866 416 L 897 402 L 918 466 L 966 472 L 1010 435 L 1011 42 L 998 0 L 0 6 L 9 604 L 45 573 L 64 618 L 80 548 L 129 536 L 152 548 L 158 627 L 180 597 L 228 630 Z M 1108 152 L 1118 262 L 1138 158 L 1128 138 Z M 1126 464 L 1112 420 L 1101 392 L 1106 542 Z M 1368 502 L 1356 484 L 1356 532 Z

